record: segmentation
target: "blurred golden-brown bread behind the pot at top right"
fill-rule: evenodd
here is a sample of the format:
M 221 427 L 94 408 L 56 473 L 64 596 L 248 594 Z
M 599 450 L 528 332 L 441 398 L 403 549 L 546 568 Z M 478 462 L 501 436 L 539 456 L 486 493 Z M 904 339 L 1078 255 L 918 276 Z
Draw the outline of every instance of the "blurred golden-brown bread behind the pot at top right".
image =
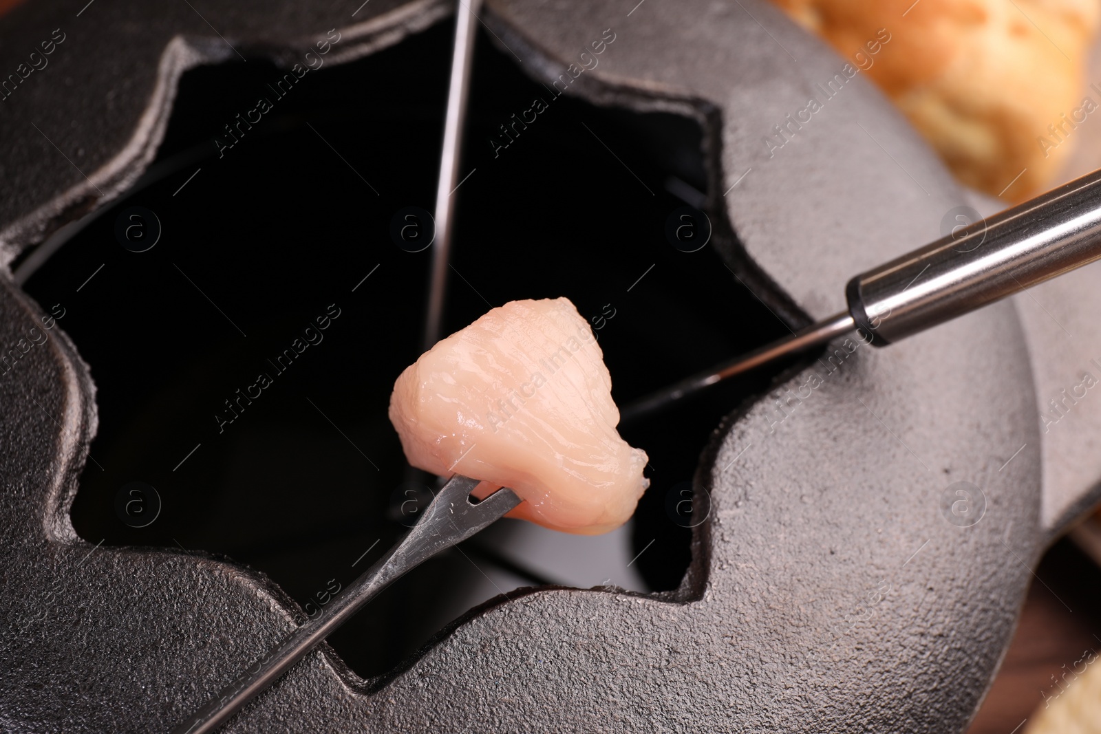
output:
M 1077 127 L 1095 116 L 1101 128 L 1101 84 L 1084 81 L 1101 0 L 773 2 L 846 57 L 886 29 L 866 74 L 972 188 L 1035 196 L 1057 183 Z

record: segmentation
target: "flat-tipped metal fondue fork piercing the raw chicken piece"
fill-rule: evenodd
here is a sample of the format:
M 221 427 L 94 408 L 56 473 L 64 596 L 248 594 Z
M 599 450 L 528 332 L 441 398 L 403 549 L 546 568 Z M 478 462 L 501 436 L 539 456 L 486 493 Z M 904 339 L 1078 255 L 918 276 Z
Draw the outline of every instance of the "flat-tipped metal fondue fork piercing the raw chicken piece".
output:
M 291 633 L 209 703 L 174 728 L 174 734 L 214 732 L 383 589 L 439 551 L 493 524 L 522 502 L 512 490 L 502 487 L 472 504 L 470 492 L 478 483 L 477 479 L 459 474 L 453 476 L 401 543 L 356 579 L 344 593 L 321 607 L 316 617 Z

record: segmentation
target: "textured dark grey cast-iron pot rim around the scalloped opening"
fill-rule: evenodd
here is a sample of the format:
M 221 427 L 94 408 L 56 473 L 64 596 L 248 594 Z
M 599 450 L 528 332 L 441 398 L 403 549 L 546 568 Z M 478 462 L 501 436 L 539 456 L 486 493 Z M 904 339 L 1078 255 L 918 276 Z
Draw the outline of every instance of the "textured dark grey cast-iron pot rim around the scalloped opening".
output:
M 238 52 L 293 63 L 333 26 L 326 4 L 13 11 L 7 37 L 48 39 L 62 24 L 66 40 L 36 74 L 72 79 L 72 91 L 32 76 L 4 102 L 7 261 L 135 179 L 186 68 Z M 377 0 L 337 26 L 334 58 L 400 43 L 448 12 Z M 839 310 L 851 275 L 939 237 L 946 212 L 967 204 L 886 99 L 770 6 L 494 0 L 482 18 L 548 86 L 615 33 L 568 94 L 702 124 L 708 206 L 727 233 L 715 247 L 788 326 Z M 18 56 L 7 47 L 0 64 Z M 811 96 L 821 109 L 791 124 Z M 66 147 L 81 151 L 72 163 L 47 139 L 70 120 Z M 1097 274 L 1035 293 L 1082 344 L 1101 342 L 1088 321 Z M 2 280 L 6 351 L 42 306 Z M 324 648 L 227 731 L 962 731 L 1032 565 L 1095 500 L 1101 401 L 1083 401 L 1060 431 L 1037 417 L 1089 369 L 1088 351 L 1024 300 L 886 350 L 839 341 L 718 427 L 696 478 L 711 513 L 676 592 L 514 594 L 379 681 Z M 304 615 L 231 563 L 78 538 L 68 510 L 96 430 L 89 369 L 59 328 L 18 368 L 0 377 L 0 722 L 167 731 Z M 962 513 L 958 491 L 978 492 Z

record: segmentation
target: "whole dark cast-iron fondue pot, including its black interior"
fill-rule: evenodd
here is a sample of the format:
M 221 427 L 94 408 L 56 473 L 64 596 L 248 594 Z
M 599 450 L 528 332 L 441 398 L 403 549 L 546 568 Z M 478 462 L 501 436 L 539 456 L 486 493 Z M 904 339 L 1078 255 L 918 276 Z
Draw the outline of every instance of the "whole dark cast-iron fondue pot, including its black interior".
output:
M 770 6 L 632 4 L 478 11 L 447 328 L 570 295 L 622 403 L 829 317 L 853 274 L 1000 208 Z M 430 251 L 391 226 L 432 232 L 415 209 L 451 13 L 8 11 L 6 37 L 54 47 L 0 102 L 6 728 L 170 731 L 401 529 L 417 482 L 384 412 L 419 348 Z M 0 63 L 28 53 L 12 41 Z M 706 247 L 666 238 L 683 207 Z M 1101 499 L 1098 272 L 640 419 L 624 436 L 653 485 L 634 570 L 574 588 L 506 545 L 459 547 L 469 583 L 495 563 L 535 585 L 453 609 L 451 567 L 425 567 L 226 731 L 963 731 L 1040 554 Z M 330 472 L 351 459 L 328 447 L 355 471 Z M 264 469 L 295 451 L 299 473 Z M 268 576 L 240 563 L 263 554 L 236 539 L 286 515 L 313 539 Z M 274 580 L 337 546 L 331 574 Z M 384 651 L 411 617 L 432 627 L 414 650 L 357 657 L 351 637 Z

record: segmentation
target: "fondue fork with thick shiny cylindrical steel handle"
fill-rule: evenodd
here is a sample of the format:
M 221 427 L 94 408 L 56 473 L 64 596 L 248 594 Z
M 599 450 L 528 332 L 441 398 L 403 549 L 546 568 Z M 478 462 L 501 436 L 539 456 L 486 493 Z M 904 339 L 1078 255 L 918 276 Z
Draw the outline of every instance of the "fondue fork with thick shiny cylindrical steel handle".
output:
M 885 347 L 1099 259 L 1095 171 L 855 276 L 846 287 L 848 310 L 635 401 L 621 420 L 858 329 Z

